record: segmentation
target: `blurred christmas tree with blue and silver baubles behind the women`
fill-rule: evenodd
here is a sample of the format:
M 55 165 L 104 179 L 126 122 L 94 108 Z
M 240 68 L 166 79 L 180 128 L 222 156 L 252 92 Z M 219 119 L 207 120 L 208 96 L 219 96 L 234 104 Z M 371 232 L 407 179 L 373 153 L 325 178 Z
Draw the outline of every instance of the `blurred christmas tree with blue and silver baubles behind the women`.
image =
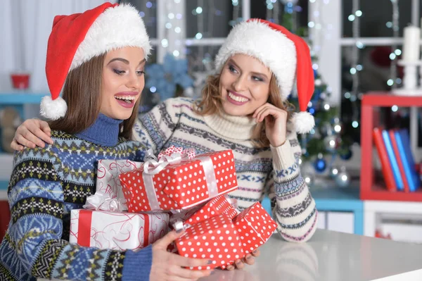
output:
M 281 13 L 280 24 L 290 32 L 300 37 L 307 38 L 307 28 L 297 28 L 298 1 L 283 0 L 283 13 Z M 267 18 L 277 23 L 278 18 Z M 312 42 L 309 42 L 309 49 L 312 50 Z M 311 54 L 313 52 L 311 51 Z M 315 127 L 309 134 L 299 135 L 302 146 L 302 175 L 308 184 L 312 184 L 315 176 L 321 175 L 335 179 L 340 186 L 347 186 L 350 183 L 350 176 L 344 167 L 335 166 L 337 157 L 348 160 L 352 157 L 352 138 L 344 135 L 339 117 L 338 107 L 329 104 L 331 89 L 324 82 L 318 70 L 318 58 L 312 56 L 314 67 L 315 91 L 308 104 L 308 111 L 314 115 Z M 298 99 L 293 93 L 289 99 L 290 104 L 299 108 Z

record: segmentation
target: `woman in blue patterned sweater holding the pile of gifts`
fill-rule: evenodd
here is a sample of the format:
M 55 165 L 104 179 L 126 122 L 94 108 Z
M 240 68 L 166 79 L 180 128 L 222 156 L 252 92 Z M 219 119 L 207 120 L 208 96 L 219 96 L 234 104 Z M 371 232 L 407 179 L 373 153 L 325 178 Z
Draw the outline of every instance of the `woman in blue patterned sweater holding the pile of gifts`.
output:
M 151 46 L 139 11 L 106 3 L 54 18 L 46 58 L 51 96 L 41 102 L 53 144 L 18 151 L 8 187 L 11 222 L 0 280 L 196 280 L 204 259 L 167 252 L 170 232 L 140 251 L 70 244 L 70 211 L 94 194 L 99 159 L 141 161 L 129 141 Z M 64 87 L 63 87 L 64 84 Z M 63 87 L 63 98 L 59 96 Z

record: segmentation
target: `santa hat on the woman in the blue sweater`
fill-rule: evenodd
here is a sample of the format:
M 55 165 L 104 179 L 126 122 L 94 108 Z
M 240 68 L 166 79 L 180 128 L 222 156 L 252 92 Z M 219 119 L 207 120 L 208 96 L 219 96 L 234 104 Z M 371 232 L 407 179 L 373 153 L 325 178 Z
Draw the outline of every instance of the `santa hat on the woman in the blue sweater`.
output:
M 41 100 L 41 115 L 51 120 L 65 116 L 68 106 L 60 97 L 70 70 L 113 49 L 136 46 L 147 57 L 151 44 L 136 8 L 105 3 L 72 15 L 57 15 L 49 37 L 46 77 L 51 96 Z

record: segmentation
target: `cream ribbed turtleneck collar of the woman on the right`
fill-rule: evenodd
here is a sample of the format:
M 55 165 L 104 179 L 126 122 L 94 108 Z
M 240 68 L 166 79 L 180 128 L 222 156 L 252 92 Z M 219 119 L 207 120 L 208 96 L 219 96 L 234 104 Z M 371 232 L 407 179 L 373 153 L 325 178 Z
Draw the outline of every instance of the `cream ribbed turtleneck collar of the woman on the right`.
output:
M 224 112 L 204 116 L 205 123 L 219 135 L 231 139 L 247 140 L 252 138 L 252 129 L 257 124 L 248 116 L 233 116 Z

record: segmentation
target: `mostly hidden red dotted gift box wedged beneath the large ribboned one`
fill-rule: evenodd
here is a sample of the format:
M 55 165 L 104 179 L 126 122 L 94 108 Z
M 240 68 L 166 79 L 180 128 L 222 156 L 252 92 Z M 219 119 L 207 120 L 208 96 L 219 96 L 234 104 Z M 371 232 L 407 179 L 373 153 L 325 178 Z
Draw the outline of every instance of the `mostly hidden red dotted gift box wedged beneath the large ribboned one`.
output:
M 231 220 L 238 214 L 236 208 L 231 204 L 230 199 L 224 195 L 217 196 L 208 201 L 199 211 L 196 211 L 193 216 L 186 220 L 184 225 L 194 225 L 222 213 L 226 214 Z

